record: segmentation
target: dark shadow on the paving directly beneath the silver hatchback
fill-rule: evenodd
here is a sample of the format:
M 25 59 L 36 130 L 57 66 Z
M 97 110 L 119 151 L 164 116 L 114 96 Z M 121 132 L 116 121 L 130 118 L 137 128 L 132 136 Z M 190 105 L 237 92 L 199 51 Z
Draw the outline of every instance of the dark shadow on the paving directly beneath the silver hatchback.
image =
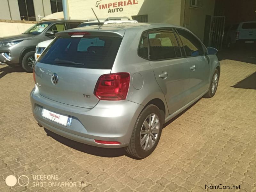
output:
M 201 99 L 199 99 L 199 100 L 201 100 Z M 188 109 L 193 107 L 199 100 L 197 100 L 191 106 L 186 108 L 179 115 L 175 116 L 170 121 L 165 123 L 163 125 L 163 128 L 165 128 L 166 126 L 171 124 L 175 119 L 179 118 Z M 62 136 L 60 136 L 60 135 L 58 135 L 58 134 L 56 134 L 54 132 L 49 131 L 46 128 L 44 128 L 44 131 L 47 133 L 48 136 L 52 137 L 54 140 L 62 143 L 63 145 L 66 145 L 66 146 L 68 146 L 70 148 L 73 148 L 73 149 L 76 149 L 78 151 L 81 151 L 83 153 L 88 153 L 88 154 L 91 154 L 91 155 L 101 156 L 101 157 L 119 157 L 119 156 L 124 156 L 125 155 L 125 156 L 131 157 L 133 159 L 136 159 L 136 158 L 130 156 L 129 154 L 127 154 L 126 151 L 124 150 L 124 148 L 100 148 L 100 147 L 95 147 L 95 146 L 86 145 L 84 143 L 79 143 L 77 141 L 70 140 L 68 138 L 62 137 Z M 139 159 L 136 159 L 136 160 L 139 160 Z

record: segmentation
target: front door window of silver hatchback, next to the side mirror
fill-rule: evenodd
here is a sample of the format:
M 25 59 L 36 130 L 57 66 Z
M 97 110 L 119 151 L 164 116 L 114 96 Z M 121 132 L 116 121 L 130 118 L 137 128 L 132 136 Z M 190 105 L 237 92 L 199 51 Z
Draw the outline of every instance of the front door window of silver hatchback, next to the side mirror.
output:
M 187 57 L 204 55 L 203 46 L 194 35 L 183 29 L 177 29 L 177 31 L 180 35 Z

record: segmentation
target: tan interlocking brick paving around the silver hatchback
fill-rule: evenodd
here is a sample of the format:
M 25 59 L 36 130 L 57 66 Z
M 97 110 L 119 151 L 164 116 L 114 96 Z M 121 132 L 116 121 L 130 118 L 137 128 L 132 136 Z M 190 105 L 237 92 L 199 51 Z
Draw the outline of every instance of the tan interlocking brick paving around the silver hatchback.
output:
M 205 185 L 219 184 L 231 189 L 208 190 L 256 191 L 256 90 L 232 87 L 248 76 L 254 79 L 250 75 L 255 64 L 222 60 L 216 95 L 199 100 L 167 124 L 154 153 L 143 160 L 131 159 L 123 150 L 47 136 L 31 113 L 32 74 L 6 66 L 0 70 L 4 71 L 0 72 L 1 192 L 198 192 L 205 191 Z M 41 174 L 59 179 L 41 180 L 45 186 L 34 186 L 32 175 Z M 8 175 L 26 175 L 30 182 L 26 187 L 18 183 L 8 187 Z M 49 182 L 76 182 L 76 187 L 53 187 Z M 20 184 L 26 183 L 22 176 Z M 232 189 L 233 185 L 240 189 Z

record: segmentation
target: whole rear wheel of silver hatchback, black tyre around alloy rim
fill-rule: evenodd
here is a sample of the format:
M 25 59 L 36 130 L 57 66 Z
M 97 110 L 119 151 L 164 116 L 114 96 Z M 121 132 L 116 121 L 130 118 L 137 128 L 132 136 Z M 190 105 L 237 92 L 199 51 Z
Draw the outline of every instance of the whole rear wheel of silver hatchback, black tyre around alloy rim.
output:
M 160 137 L 162 133 L 162 127 L 164 123 L 164 117 L 161 116 L 161 111 L 158 107 L 155 105 L 148 105 L 146 108 L 142 110 L 140 113 L 133 131 L 132 131 L 132 137 L 130 140 L 130 143 L 128 147 L 126 148 L 126 152 L 128 153 L 129 156 L 135 159 L 143 159 L 147 156 L 149 156 L 156 148 Z M 151 116 L 150 116 L 151 115 Z M 149 121 L 149 118 L 153 121 L 154 117 L 156 117 L 156 121 L 154 121 L 154 125 L 156 125 L 156 128 L 152 128 L 151 131 L 146 131 L 146 124 Z M 157 121 L 158 119 L 158 121 Z M 145 121 L 145 125 L 144 125 Z M 151 121 L 151 122 L 152 122 Z M 149 125 L 149 123 L 148 123 Z M 150 126 L 150 125 L 149 125 Z M 149 129 L 148 129 L 149 130 Z M 144 132 L 144 133 L 143 133 Z M 145 133 L 147 132 L 147 133 Z M 151 139 L 150 139 L 151 138 Z M 155 138 L 155 140 L 154 140 Z M 140 144 L 140 141 L 142 141 L 144 145 Z M 147 143 L 148 140 L 148 143 Z M 151 141 L 151 146 L 150 146 L 150 141 Z

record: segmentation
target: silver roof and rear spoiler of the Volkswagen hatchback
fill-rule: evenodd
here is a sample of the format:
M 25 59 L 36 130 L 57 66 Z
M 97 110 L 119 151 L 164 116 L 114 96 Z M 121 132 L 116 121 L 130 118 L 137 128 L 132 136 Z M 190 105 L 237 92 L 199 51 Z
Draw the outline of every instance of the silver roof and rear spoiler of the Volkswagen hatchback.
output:
M 67 34 L 68 32 L 86 32 L 86 31 L 97 31 L 97 32 L 114 32 L 121 36 L 124 36 L 124 31 L 132 31 L 132 33 L 142 33 L 143 31 L 154 29 L 154 28 L 183 28 L 181 26 L 166 24 L 166 23 L 111 23 L 108 25 L 101 26 L 87 26 L 80 28 L 68 29 L 66 31 L 62 31 L 56 33 L 56 36 L 61 36 Z M 188 30 L 188 29 L 186 29 Z

